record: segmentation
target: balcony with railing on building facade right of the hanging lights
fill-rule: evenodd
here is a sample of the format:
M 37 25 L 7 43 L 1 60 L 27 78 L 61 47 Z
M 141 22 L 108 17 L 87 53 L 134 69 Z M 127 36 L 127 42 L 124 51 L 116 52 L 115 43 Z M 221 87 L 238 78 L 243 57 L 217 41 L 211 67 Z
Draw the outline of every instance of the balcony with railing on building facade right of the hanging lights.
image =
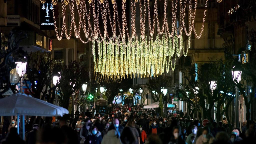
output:
M 186 40 L 186 44 L 188 40 Z M 222 38 L 212 39 L 191 39 L 190 49 L 223 49 L 224 40 Z

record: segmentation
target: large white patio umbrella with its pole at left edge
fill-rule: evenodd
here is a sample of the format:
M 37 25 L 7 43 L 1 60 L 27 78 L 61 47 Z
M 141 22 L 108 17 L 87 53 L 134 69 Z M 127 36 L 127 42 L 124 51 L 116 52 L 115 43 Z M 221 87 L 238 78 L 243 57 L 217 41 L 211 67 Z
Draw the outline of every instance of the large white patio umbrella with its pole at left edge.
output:
M 63 116 L 68 110 L 30 95 L 17 93 L 0 99 L 0 116 L 27 115 L 27 116 Z M 19 120 L 17 120 L 19 132 Z M 24 118 L 23 118 L 24 126 Z M 24 134 L 24 128 L 23 128 Z M 23 136 L 24 138 L 24 136 Z

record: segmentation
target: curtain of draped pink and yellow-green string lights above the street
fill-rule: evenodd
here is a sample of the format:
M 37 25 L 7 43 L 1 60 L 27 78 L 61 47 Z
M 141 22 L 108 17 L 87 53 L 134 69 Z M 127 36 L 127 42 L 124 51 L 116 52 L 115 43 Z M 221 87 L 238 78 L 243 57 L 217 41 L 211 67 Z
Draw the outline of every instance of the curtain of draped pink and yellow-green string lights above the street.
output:
M 54 17 L 55 32 L 58 40 L 61 40 L 64 34 L 67 39 L 70 39 L 74 31 L 74 36 L 81 42 L 91 41 L 95 73 L 100 73 L 104 77 L 119 78 L 131 74 L 140 74 L 141 77 L 158 76 L 165 70 L 168 72 L 170 67 L 174 70 L 176 58 L 182 52 L 184 56 L 187 55 L 192 33 L 196 38 L 200 38 L 203 33 L 208 0 L 205 3 L 200 33 L 197 33 L 198 29 L 197 31 L 195 29 L 198 1 L 193 0 L 193 2 L 195 4 L 192 8 L 192 0 L 155 0 L 152 1 L 153 11 L 150 11 L 149 0 L 127 2 L 122 0 L 122 7 L 118 7 L 116 0 L 61 0 L 63 25 L 59 33 Z M 128 3 L 130 6 L 126 6 Z M 158 3 L 164 5 L 162 19 L 158 16 L 161 6 Z M 170 5 L 168 9 L 171 9 L 172 15 L 169 20 L 167 17 L 168 3 Z M 139 11 L 136 11 L 136 5 Z M 66 26 L 66 8 L 69 8 L 71 13 L 69 31 Z M 129 8 L 131 13 L 129 19 L 131 30 L 126 20 L 126 8 Z M 75 9 L 78 11 L 78 16 L 75 16 Z M 122 16 L 119 16 L 118 9 L 122 10 Z M 136 15 L 139 15 L 139 22 L 136 21 Z M 76 17 L 79 19 L 75 19 Z M 119 17 L 122 18 L 121 21 Z M 178 26 L 177 17 L 179 17 Z M 188 18 L 187 27 L 185 17 Z M 146 23 L 148 36 L 145 34 Z M 99 24 L 103 25 L 103 30 L 100 30 Z M 140 25 L 139 30 L 136 30 L 136 24 Z M 109 33 L 108 29 L 112 32 Z M 80 37 L 81 31 L 86 38 Z M 186 50 L 183 45 L 183 33 L 188 37 Z

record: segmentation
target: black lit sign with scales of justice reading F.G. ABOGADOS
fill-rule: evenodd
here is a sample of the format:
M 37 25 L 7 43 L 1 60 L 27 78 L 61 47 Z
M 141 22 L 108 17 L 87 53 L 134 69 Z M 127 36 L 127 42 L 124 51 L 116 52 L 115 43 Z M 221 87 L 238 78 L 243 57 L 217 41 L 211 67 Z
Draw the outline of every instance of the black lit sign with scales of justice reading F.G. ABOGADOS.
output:
M 46 0 L 44 4 L 40 4 L 40 29 L 42 30 L 53 30 L 54 20 L 53 12 L 54 9 L 51 0 Z

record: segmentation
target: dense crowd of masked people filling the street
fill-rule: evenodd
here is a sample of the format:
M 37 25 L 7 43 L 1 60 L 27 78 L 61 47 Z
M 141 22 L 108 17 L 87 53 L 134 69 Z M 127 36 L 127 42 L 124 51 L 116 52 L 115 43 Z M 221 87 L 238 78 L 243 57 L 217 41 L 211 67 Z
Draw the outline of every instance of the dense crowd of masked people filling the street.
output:
M 58 124 L 51 117 L 28 119 L 26 139 L 19 138 L 15 119 L 4 120 L 0 126 L 0 144 L 9 143 L 67 143 L 67 144 L 240 144 L 255 143 L 255 121 L 243 122 L 242 129 L 223 121 L 208 123 L 175 109 L 161 117 L 154 109 L 141 106 L 114 105 L 109 114 L 79 115 L 74 119 L 60 117 Z M 185 120 L 184 120 L 185 119 Z

